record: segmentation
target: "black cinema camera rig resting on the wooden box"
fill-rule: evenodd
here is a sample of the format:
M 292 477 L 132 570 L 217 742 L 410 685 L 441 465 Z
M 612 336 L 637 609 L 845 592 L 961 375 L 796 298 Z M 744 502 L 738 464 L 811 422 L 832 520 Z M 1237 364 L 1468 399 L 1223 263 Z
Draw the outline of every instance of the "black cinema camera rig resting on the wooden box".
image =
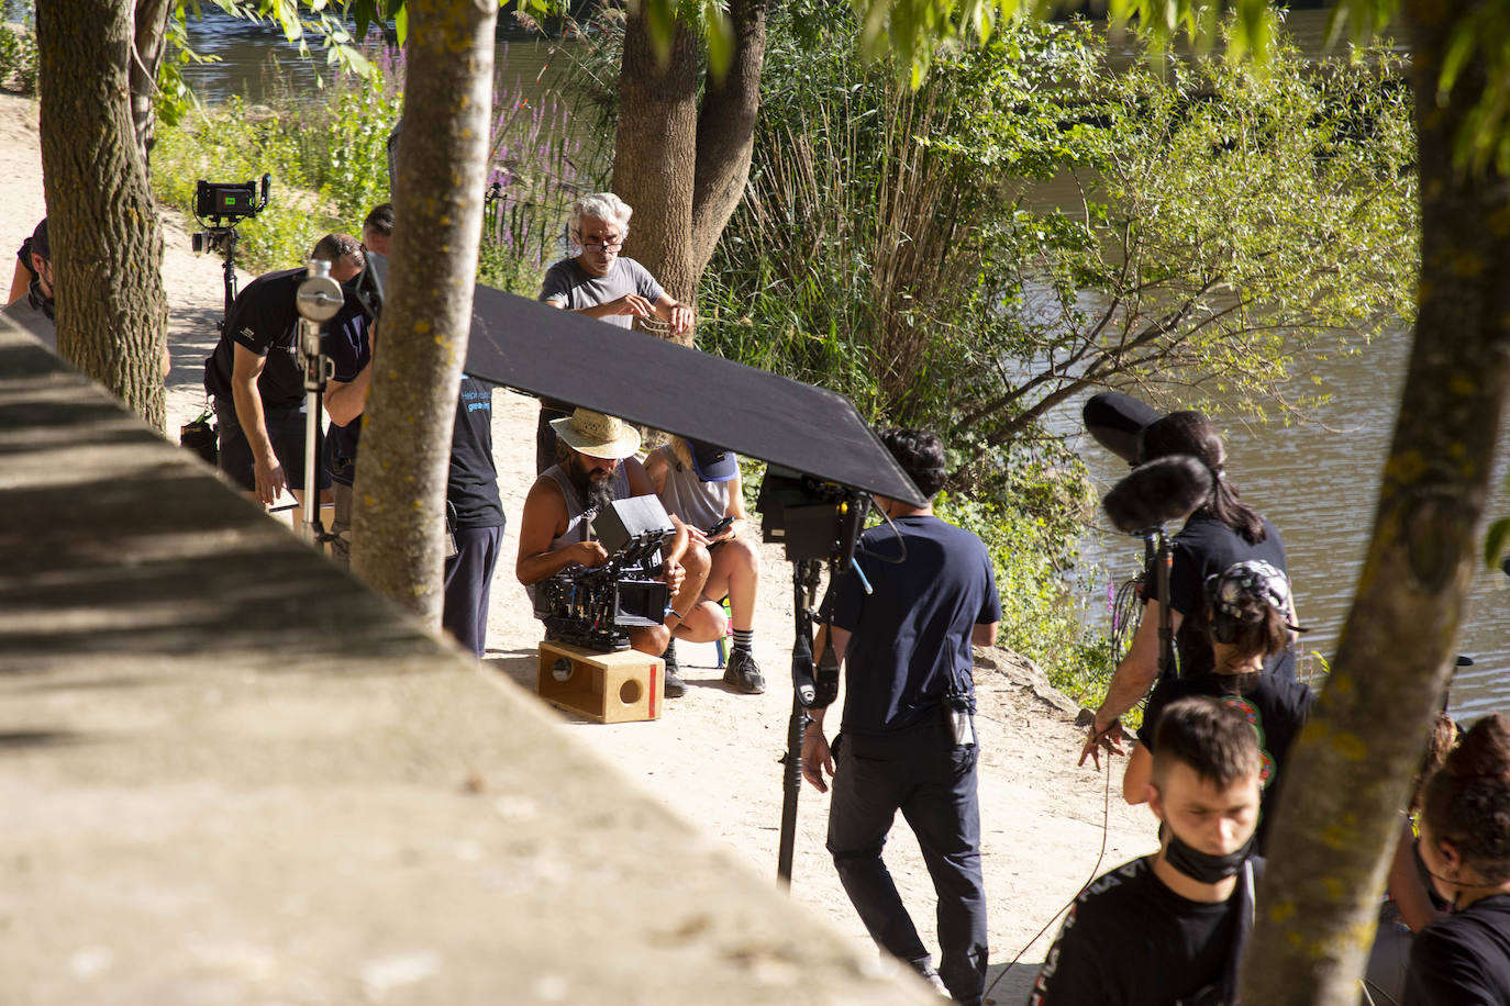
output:
M 628 629 L 658 626 L 666 618 L 670 590 L 661 579 L 661 543 L 675 534 L 655 496 L 615 499 L 592 520 L 609 561 L 562 572 L 535 590 L 535 614 L 545 638 L 587 650 L 630 646 Z

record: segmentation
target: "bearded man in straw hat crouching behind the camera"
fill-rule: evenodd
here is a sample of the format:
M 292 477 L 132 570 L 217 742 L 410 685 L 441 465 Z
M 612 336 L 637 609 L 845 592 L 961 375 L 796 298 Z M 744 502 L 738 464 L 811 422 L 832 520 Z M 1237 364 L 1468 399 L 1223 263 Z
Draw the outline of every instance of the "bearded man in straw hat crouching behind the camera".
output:
M 592 540 L 592 519 L 601 507 L 630 496 L 654 496 L 645 468 L 634 459 L 640 434 L 615 416 L 577 409 L 551 422 L 566 449 L 560 463 L 548 468 L 524 498 L 519 519 L 519 558 L 515 575 L 533 587 L 557 573 L 595 567 L 609 561 L 609 552 Z M 666 584 L 672 590 L 670 609 L 658 626 L 631 626 L 630 646 L 640 653 L 666 659 L 666 695 L 686 692 L 675 656 L 669 656 L 672 635 L 693 643 L 717 639 L 725 632 L 723 609 L 701 600 L 708 579 L 707 549 L 690 549 L 687 526 L 672 517 L 676 537 L 663 547 Z

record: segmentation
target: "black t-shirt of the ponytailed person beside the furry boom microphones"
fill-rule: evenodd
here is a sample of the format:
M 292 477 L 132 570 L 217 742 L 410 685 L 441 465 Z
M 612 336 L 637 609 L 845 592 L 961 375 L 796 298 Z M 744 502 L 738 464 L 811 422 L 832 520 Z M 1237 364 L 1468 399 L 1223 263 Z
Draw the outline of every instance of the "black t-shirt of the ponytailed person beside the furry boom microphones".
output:
M 1216 517 L 1196 514 L 1173 538 L 1173 563 L 1169 570 L 1169 606 L 1182 615 L 1175 633 L 1175 652 L 1181 674 L 1205 674 L 1216 661 L 1206 638 L 1206 576 L 1225 572 L 1234 563 L 1262 560 L 1285 570 L 1285 543 L 1274 525 L 1264 519 L 1264 540 L 1249 544 L 1241 534 Z M 1143 587 L 1143 599 L 1154 599 L 1155 579 Z M 1296 655 L 1290 650 L 1270 658 L 1264 667 L 1284 677 L 1296 676 Z

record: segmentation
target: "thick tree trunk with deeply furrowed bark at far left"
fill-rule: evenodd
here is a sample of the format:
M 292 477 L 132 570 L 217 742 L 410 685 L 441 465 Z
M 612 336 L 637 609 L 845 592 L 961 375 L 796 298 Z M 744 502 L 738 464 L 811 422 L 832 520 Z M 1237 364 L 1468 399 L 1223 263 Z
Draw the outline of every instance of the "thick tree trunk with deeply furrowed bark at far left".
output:
M 36 6 L 42 175 L 57 350 L 166 422 L 163 235 L 131 124 L 133 5 Z

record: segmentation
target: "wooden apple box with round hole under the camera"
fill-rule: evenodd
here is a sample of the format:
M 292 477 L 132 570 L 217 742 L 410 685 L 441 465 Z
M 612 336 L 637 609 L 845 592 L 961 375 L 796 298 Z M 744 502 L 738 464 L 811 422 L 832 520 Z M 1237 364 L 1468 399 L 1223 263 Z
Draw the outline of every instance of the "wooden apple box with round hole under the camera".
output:
M 566 643 L 541 643 L 541 698 L 598 722 L 660 719 L 666 665 L 639 650 L 598 653 Z

